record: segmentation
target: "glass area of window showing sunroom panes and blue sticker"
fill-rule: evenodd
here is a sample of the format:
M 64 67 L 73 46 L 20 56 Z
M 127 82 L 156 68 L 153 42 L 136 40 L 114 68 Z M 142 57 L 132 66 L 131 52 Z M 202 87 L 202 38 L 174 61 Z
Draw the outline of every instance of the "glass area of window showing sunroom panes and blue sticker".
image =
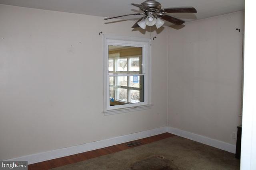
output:
M 142 47 L 108 45 L 110 106 L 144 102 Z

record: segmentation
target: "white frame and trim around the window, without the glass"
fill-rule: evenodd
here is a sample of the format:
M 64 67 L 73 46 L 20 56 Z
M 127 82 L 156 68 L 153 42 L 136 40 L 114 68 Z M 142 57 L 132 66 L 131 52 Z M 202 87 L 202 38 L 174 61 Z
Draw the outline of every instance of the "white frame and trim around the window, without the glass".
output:
M 126 37 L 116 35 L 103 36 L 103 71 L 104 71 L 104 111 L 105 115 L 124 113 L 129 111 L 137 111 L 149 109 L 151 104 L 151 48 L 150 39 L 138 37 Z M 109 77 L 108 74 L 108 45 L 142 47 L 142 74 L 136 76 L 144 76 L 144 102 L 110 106 L 109 101 Z M 128 68 L 128 65 L 127 65 Z M 125 74 L 120 76 L 134 76 L 135 74 Z

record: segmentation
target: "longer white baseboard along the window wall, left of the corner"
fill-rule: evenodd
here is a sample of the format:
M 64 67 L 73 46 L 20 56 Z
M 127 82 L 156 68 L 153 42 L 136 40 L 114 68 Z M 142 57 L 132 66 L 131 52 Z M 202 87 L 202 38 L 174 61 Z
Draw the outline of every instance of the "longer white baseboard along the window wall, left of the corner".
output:
M 101 141 L 85 143 L 85 144 L 82 144 L 82 145 L 67 147 L 67 148 L 63 148 L 63 149 L 50 150 L 50 151 L 47 151 L 47 152 L 41 152 L 41 153 L 37 153 L 37 154 L 21 156 L 21 157 L 18 157 L 18 158 L 12 158 L 12 159 L 8 159 L 8 160 L 10 160 L 10 161 L 12 161 L 12 160 L 14 160 L 14 161 L 15 160 L 18 160 L 18 161 L 26 160 L 26 161 L 28 161 L 28 164 L 34 164 L 34 163 L 42 162 L 42 161 L 45 161 L 45 160 L 51 160 L 51 159 L 60 158 L 60 157 L 63 157 L 63 156 L 69 156 L 69 155 L 72 155 L 72 154 L 78 154 L 78 153 L 87 152 L 87 151 L 94 150 L 94 149 L 100 149 L 100 148 L 109 147 L 109 146 L 112 146 L 112 145 L 117 145 L 117 144 L 120 144 L 120 143 L 125 143 L 125 142 L 129 142 L 129 141 L 134 141 L 134 140 L 137 140 L 137 139 L 142 139 L 142 138 L 145 138 L 145 137 L 158 135 L 158 134 L 167 132 L 167 130 L 168 130 L 167 127 L 159 127 L 159 128 L 151 129 L 151 130 L 148 130 L 148 131 L 132 133 L 132 134 L 124 135 L 124 136 L 120 136 L 120 137 L 104 139 L 104 140 L 101 140 Z

